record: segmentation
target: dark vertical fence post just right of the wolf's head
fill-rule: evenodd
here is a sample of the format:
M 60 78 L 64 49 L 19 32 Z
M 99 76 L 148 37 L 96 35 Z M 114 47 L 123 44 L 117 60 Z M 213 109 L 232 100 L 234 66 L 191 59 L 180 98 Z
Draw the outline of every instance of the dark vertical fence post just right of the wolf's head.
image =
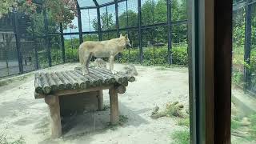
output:
M 143 61 L 143 50 L 142 50 L 142 3 L 138 0 L 138 46 L 139 46 L 139 58 L 140 62 Z

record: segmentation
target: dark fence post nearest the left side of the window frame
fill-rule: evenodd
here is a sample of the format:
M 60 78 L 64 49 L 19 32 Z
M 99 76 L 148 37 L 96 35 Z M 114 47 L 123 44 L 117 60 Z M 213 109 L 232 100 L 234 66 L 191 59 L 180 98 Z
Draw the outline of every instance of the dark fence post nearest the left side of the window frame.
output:
M 167 23 L 168 23 L 168 63 L 172 64 L 171 54 L 171 0 L 167 0 Z

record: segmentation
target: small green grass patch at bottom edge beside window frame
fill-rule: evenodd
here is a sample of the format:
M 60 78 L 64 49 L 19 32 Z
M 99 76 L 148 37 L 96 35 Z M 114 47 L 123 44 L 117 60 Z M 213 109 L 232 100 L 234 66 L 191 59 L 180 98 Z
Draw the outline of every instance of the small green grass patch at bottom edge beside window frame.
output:
M 174 139 L 175 144 L 188 144 L 190 143 L 190 130 L 176 130 L 171 135 L 171 138 Z

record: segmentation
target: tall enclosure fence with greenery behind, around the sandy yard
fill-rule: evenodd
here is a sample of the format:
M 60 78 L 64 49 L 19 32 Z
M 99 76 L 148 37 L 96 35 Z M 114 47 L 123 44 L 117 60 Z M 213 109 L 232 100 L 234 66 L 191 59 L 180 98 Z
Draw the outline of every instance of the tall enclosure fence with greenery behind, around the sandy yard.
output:
M 120 33 L 129 35 L 132 48 L 118 54 L 119 62 L 187 65 L 186 1 L 78 0 L 76 4 L 77 16 L 68 27 L 55 24 L 43 8 L 37 18 L 13 10 L 7 20 L 0 19 L 11 27 L 0 25 L 0 78 L 77 62 L 81 42 L 117 38 Z M 255 0 L 234 0 L 233 9 L 234 58 L 242 59 L 234 61 L 233 75 L 238 85 L 255 92 Z M 241 34 L 236 34 L 239 30 Z

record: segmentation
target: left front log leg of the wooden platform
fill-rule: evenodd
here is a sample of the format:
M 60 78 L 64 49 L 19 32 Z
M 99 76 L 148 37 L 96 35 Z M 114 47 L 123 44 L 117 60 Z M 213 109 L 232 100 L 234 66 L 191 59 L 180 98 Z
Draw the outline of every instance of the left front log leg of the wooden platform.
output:
M 45 98 L 45 102 L 50 109 L 51 136 L 52 138 L 59 138 L 62 135 L 62 123 L 58 96 L 48 95 Z

